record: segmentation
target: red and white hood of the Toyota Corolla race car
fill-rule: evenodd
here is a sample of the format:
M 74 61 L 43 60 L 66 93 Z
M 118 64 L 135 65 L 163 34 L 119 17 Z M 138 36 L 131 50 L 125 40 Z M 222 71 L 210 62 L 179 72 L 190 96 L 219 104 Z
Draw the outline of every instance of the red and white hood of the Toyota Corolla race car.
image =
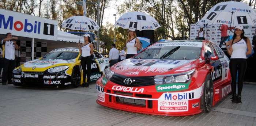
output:
M 196 61 L 129 58 L 118 62 L 110 69 L 114 73 L 125 76 L 155 76 L 186 72 L 197 66 Z

